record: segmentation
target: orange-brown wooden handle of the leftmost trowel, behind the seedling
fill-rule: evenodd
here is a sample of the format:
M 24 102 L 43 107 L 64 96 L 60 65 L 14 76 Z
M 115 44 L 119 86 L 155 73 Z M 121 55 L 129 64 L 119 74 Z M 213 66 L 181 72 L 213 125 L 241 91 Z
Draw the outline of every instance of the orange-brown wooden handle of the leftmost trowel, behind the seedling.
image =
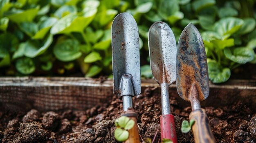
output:
M 124 143 L 140 143 L 139 141 L 139 131 L 138 131 L 138 125 L 137 125 L 137 113 L 135 113 L 132 110 L 127 110 L 123 116 L 129 117 L 133 121 L 135 121 L 135 124 L 133 128 L 128 130 L 129 132 L 129 138 Z

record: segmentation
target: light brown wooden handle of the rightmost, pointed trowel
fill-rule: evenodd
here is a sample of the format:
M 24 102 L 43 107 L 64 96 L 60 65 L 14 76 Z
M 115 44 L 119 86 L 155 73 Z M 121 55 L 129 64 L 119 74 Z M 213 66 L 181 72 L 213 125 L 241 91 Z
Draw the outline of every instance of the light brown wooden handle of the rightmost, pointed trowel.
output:
M 204 109 L 197 109 L 189 114 L 190 120 L 195 120 L 192 126 L 195 143 L 215 143 L 209 119 Z

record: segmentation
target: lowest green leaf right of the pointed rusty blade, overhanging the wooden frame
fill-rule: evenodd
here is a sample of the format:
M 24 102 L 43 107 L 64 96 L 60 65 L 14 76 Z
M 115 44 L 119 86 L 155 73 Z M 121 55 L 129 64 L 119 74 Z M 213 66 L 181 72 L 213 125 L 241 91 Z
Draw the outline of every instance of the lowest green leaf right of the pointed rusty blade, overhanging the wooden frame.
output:
M 208 62 L 209 79 L 214 83 L 222 83 L 229 79 L 231 71 L 229 68 L 222 68 L 216 61 Z

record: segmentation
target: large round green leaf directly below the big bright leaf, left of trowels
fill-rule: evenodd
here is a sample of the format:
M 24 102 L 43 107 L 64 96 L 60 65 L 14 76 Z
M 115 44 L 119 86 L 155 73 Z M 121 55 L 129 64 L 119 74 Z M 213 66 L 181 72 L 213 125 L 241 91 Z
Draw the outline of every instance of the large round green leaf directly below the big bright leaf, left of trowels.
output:
M 53 53 L 58 60 L 63 62 L 73 61 L 82 55 L 79 52 L 79 42 L 74 39 L 57 43 L 53 48 Z

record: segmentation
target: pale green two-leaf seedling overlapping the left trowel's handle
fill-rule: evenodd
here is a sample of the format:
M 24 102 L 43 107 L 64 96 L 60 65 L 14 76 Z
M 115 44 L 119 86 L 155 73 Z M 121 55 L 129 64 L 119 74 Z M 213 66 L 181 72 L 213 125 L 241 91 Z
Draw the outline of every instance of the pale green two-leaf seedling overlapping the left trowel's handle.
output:
M 126 116 L 122 116 L 115 121 L 117 129 L 115 130 L 115 138 L 117 141 L 126 141 L 129 137 L 129 132 L 135 122 Z

